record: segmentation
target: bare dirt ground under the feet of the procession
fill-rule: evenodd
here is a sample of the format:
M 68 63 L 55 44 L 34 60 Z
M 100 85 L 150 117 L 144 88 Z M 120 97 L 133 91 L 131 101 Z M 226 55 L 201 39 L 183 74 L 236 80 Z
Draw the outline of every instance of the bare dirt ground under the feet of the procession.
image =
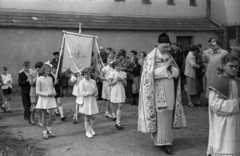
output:
M 186 97 L 183 98 L 183 101 L 187 127 L 174 130 L 174 155 L 204 156 L 208 141 L 208 108 L 206 106 L 189 108 Z M 206 100 L 203 100 L 203 103 L 206 103 Z M 42 129 L 23 119 L 21 97 L 14 96 L 11 105 L 12 114 L 0 113 L 3 118 L 0 120 L 1 138 L 12 134 L 11 137 L 16 139 L 18 144 L 21 142 L 22 145 L 28 145 L 19 146 L 19 148 L 35 148 L 39 155 L 166 156 L 159 147 L 153 145 L 149 134 L 137 131 L 137 106 L 129 104 L 123 106 L 122 124 L 125 129 L 119 131 L 115 128 L 115 123 L 112 120 L 105 118 L 105 104 L 103 101 L 99 101 L 100 113 L 96 116 L 97 120 L 94 126 L 97 136 L 88 139 L 85 137 L 83 116 L 79 117 L 78 124 L 72 123 L 74 98 L 64 98 L 64 111 L 68 119 L 62 122 L 59 117 L 55 117 L 56 121 L 54 121 L 52 129 L 57 137 L 44 140 Z M 0 153 L 0 156 L 3 155 L 4 153 Z

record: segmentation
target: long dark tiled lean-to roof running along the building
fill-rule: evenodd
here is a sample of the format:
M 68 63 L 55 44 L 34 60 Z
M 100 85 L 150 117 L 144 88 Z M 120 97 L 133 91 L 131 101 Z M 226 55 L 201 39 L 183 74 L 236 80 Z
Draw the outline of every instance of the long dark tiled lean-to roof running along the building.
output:
M 37 17 L 38 20 L 33 20 Z M 207 18 L 147 18 L 97 16 L 79 14 L 0 11 L 1 27 L 74 28 L 102 30 L 182 30 L 218 31 L 220 28 Z

